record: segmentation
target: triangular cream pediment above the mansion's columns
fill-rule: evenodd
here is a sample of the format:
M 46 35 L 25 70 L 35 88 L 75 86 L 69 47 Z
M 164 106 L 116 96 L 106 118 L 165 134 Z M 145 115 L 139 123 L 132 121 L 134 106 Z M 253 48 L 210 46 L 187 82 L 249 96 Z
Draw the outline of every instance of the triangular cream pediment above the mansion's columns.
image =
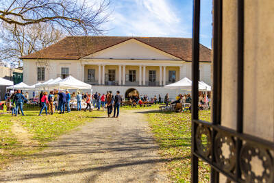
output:
M 85 56 L 82 59 L 180 60 L 134 38 Z

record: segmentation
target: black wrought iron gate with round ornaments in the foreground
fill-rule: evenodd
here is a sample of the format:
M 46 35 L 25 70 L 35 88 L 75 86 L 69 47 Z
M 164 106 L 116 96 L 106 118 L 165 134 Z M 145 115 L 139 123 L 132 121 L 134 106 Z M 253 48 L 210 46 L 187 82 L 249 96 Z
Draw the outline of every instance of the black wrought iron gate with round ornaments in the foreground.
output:
M 238 84 L 236 130 L 221 126 L 222 14 L 223 0 L 214 0 L 213 26 L 213 101 L 212 123 L 198 117 L 200 0 L 194 0 L 192 38 L 192 182 L 198 182 L 199 158 L 211 167 L 211 182 L 219 182 L 219 173 L 234 182 L 274 182 L 274 143 L 242 132 L 244 0 L 238 0 Z M 203 136 L 207 142 L 202 143 Z M 229 147 L 229 158 L 221 147 Z M 262 162 L 262 173 L 251 168 L 252 158 Z

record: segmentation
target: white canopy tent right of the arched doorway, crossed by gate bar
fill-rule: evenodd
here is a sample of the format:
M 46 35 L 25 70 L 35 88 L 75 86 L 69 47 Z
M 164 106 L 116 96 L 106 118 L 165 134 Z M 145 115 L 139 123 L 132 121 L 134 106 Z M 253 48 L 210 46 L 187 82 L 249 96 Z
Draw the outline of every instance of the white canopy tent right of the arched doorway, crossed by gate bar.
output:
M 189 80 L 187 77 L 184 77 L 182 80 L 175 82 L 173 84 L 165 85 L 164 88 L 171 89 L 171 90 L 191 90 L 192 81 Z M 206 90 L 206 86 L 199 82 L 199 90 Z

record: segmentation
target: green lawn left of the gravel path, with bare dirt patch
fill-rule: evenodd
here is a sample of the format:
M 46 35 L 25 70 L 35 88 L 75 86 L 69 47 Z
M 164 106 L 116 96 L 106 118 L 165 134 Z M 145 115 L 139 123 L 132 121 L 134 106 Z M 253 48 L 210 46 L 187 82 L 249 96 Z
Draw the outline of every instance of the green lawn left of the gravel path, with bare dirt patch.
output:
M 45 147 L 47 142 L 52 141 L 61 134 L 92 121 L 92 117 L 99 117 L 103 114 L 102 111 L 72 111 L 71 113 L 45 116 L 43 112 L 42 117 L 38 117 L 39 108 L 25 108 L 24 112 L 25 117 L 21 115 L 12 117 L 11 114 L 2 114 L 0 116 L 0 164 L 6 162 L 9 158 L 32 154 Z M 23 147 L 16 139 L 16 136 L 12 134 L 11 127 L 14 123 L 19 123 L 27 132 L 32 134 L 34 140 L 38 141 L 39 146 L 36 148 Z

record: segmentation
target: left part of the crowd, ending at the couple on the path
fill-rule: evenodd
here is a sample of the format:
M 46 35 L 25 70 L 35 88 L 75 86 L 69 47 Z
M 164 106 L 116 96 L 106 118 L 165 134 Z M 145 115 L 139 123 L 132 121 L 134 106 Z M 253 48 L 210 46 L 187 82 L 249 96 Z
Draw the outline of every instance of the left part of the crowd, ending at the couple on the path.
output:
M 33 93 L 33 99 L 35 97 L 35 93 Z M 38 116 L 42 115 L 43 110 L 45 110 L 45 114 L 53 114 L 54 112 L 58 112 L 59 114 L 64 114 L 65 110 L 66 112 L 71 112 L 71 99 L 76 98 L 77 99 L 77 110 L 82 110 L 82 102 L 84 101 L 86 103 L 86 108 L 84 109 L 84 112 L 86 110 L 89 110 L 90 112 L 97 108 L 97 110 L 100 110 L 101 108 L 108 109 L 108 117 L 111 116 L 112 111 L 114 112 L 112 117 L 119 117 L 119 111 L 121 106 L 121 95 L 120 92 L 117 91 L 116 95 L 114 95 L 111 92 L 108 92 L 107 95 L 100 93 L 90 94 L 90 93 L 80 93 L 77 92 L 77 95 L 73 93 L 69 93 L 69 90 L 66 90 L 65 92 L 62 90 L 51 90 L 49 93 L 47 92 L 40 92 L 39 95 L 39 106 L 40 106 L 40 112 Z M 11 112 L 12 116 L 17 116 L 18 114 L 21 114 L 24 116 L 23 112 L 23 105 L 24 103 L 29 102 L 29 95 L 28 93 L 21 93 L 21 90 L 14 90 L 14 93 L 5 93 L 5 104 L 7 106 L 7 112 Z M 56 105 L 55 105 L 56 104 Z M 114 110 L 112 110 L 114 108 Z

